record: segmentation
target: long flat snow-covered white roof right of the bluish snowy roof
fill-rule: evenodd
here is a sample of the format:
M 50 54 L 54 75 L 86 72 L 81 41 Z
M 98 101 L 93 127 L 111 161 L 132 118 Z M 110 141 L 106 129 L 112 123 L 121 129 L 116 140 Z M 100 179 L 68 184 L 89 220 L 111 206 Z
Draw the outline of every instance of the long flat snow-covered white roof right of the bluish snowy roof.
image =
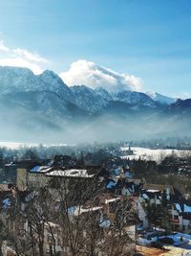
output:
M 71 170 L 54 170 L 46 175 L 50 176 L 67 176 L 67 177 L 93 177 L 94 175 L 88 175 L 87 170 L 78 170 L 78 169 L 71 169 Z

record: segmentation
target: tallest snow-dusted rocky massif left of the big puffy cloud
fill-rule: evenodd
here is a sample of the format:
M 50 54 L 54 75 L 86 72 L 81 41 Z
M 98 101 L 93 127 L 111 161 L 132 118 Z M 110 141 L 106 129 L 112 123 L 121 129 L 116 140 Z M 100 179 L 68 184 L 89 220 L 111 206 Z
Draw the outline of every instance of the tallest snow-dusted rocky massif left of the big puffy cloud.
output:
M 28 68 L 0 66 L 0 93 L 52 91 L 74 103 L 71 89 L 53 71 L 36 76 Z

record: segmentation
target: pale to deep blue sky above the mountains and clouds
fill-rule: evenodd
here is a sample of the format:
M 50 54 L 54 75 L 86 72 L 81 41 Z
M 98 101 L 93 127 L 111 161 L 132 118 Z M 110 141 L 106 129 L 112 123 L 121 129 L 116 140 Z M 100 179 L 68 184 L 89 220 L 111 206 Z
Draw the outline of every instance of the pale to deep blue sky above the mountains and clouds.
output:
M 143 91 L 191 97 L 190 0 L 0 0 L 0 40 L 0 64 L 62 73 L 86 59 Z

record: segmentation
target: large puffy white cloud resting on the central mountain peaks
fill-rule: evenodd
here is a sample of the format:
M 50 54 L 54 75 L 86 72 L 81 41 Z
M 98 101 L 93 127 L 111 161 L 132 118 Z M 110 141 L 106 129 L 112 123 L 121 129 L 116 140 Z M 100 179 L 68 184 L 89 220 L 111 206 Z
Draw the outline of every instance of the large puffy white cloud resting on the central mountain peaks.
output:
M 143 81 L 133 75 L 119 74 L 109 68 L 100 67 L 95 62 L 79 59 L 73 62 L 70 69 L 62 72 L 60 77 L 68 85 L 84 84 L 91 88 L 102 86 L 108 91 L 121 90 L 141 91 Z

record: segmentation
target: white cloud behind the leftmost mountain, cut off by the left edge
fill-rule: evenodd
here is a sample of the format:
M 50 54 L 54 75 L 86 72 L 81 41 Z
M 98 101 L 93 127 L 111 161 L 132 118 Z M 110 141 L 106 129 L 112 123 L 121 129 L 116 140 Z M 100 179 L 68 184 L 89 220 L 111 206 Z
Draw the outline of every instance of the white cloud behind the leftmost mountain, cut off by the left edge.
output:
M 30 68 L 34 74 L 40 74 L 45 69 L 44 65 L 48 62 L 46 58 L 40 57 L 35 52 L 32 53 L 21 48 L 11 49 L 0 39 L 1 66 L 27 67 Z

